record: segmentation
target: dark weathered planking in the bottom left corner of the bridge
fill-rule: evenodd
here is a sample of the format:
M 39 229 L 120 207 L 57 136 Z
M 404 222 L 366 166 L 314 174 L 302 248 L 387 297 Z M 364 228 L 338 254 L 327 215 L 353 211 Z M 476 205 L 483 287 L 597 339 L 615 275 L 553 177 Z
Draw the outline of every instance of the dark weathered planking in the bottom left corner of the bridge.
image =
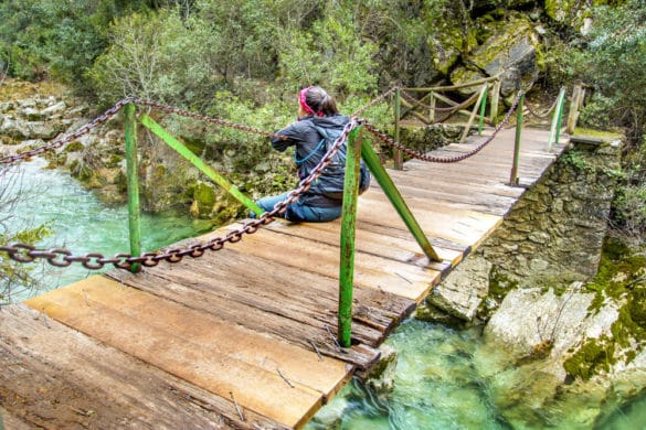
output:
M 9 429 L 284 428 L 22 304 L 0 311 Z

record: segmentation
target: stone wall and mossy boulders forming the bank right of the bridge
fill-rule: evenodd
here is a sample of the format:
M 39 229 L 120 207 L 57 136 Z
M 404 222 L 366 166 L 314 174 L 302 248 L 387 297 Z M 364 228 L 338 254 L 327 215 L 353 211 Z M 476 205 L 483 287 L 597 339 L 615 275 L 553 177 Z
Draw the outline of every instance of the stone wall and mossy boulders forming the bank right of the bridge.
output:
M 478 372 L 519 426 L 579 405 L 571 421 L 591 428 L 604 405 L 646 390 L 646 257 L 607 226 L 617 142 L 565 153 L 417 312 L 484 324 Z

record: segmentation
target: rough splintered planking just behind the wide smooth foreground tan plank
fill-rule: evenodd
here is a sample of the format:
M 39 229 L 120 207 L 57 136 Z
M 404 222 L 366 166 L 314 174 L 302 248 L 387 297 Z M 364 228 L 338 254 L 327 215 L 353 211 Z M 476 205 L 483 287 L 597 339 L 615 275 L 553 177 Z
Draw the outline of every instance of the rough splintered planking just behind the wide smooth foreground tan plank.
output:
M 246 256 L 236 248 L 235 245 L 208 252 L 191 265 L 162 264 L 147 268 L 145 276 L 129 276 L 124 271 L 108 276 L 308 350 L 314 342 L 327 355 L 361 367 L 377 359 L 379 354 L 364 347 L 338 352 L 330 340 L 328 330 L 336 333 L 337 325 L 338 280 L 278 267 L 273 260 Z M 356 299 L 374 319 L 370 326 L 356 327 L 357 338 L 369 345 L 378 345 L 390 325 L 407 314 L 413 305 L 410 300 L 374 289 L 359 288 Z

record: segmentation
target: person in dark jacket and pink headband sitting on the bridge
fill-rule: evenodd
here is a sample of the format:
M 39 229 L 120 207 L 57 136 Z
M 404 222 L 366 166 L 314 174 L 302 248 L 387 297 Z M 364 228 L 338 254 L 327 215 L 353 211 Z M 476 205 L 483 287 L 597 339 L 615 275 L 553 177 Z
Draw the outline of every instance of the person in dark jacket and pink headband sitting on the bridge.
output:
M 272 146 L 280 152 L 289 147 L 296 147 L 294 161 L 298 166 L 298 176 L 303 180 L 311 173 L 326 154 L 326 140 L 333 142 L 349 121 L 348 116 L 339 114 L 335 99 L 325 89 L 309 86 L 298 93 L 296 122 L 276 132 L 286 139 L 272 138 Z M 280 216 L 295 223 L 320 223 L 338 218 L 342 207 L 345 152 L 343 150 L 342 162 L 328 165 L 311 183 L 310 189 L 300 194 L 298 201 L 289 204 Z M 360 189 L 366 190 L 367 182 L 370 182 L 367 169 L 362 169 Z M 287 194 L 288 192 L 263 197 L 256 204 L 265 212 L 271 212 L 276 203 L 287 198 Z

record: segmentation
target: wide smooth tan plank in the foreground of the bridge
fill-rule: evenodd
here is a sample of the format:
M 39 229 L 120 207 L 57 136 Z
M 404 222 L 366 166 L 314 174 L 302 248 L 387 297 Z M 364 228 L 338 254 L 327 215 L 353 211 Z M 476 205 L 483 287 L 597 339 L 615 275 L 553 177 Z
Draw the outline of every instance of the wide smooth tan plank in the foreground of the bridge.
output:
M 233 393 L 246 409 L 289 427 L 349 377 L 342 362 L 319 362 L 314 352 L 102 277 L 25 303 L 213 394 Z

